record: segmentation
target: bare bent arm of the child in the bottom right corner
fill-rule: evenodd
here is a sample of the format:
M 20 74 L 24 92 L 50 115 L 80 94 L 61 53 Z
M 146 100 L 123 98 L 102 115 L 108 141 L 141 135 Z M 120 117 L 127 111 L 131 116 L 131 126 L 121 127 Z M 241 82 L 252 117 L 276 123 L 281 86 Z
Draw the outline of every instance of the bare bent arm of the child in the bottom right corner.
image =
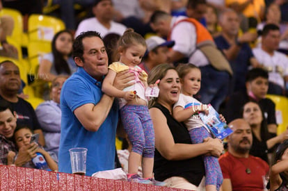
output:
M 269 172 L 270 178 L 270 190 L 276 190 L 282 184 L 282 178 L 280 172 L 284 172 L 288 169 L 288 159 L 282 160 L 273 165 Z

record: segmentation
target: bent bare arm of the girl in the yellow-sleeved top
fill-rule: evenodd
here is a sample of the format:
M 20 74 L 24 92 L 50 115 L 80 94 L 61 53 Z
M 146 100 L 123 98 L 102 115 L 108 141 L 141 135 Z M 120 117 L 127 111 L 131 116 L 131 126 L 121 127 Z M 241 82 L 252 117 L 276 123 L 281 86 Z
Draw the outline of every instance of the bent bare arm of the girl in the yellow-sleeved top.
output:
M 124 98 L 127 101 L 134 99 L 133 93 L 118 90 L 117 88 L 113 86 L 113 82 L 114 82 L 116 74 L 117 73 L 114 72 L 112 69 L 108 70 L 108 74 L 106 75 L 103 81 L 102 91 L 111 97 Z

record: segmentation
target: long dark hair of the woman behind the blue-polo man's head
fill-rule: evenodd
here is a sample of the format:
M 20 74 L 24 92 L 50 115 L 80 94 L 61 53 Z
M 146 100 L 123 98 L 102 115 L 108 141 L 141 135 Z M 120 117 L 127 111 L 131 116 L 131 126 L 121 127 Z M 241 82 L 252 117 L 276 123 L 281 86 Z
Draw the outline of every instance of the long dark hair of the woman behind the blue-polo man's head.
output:
M 63 53 L 61 53 L 60 51 L 58 51 L 56 49 L 56 40 L 58 39 L 59 35 L 61 35 L 62 33 L 70 34 L 72 39 L 73 39 L 72 33 L 68 30 L 59 31 L 58 33 L 56 33 L 54 35 L 54 38 L 53 38 L 52 43 L 51 43 L 52 54 L 54 56 L 54 67 L 55 67 L 57 74 L 61 74 L 62 72 L 65 72 L 67 74 L 71 74 L 70 67 L 69 67 L 67 61 L 63 58 Z M 72 53 L 72 51 L 71 51 L 71 53 Z M 71 56 L 71 53 L 70 53 L 70 56 Z

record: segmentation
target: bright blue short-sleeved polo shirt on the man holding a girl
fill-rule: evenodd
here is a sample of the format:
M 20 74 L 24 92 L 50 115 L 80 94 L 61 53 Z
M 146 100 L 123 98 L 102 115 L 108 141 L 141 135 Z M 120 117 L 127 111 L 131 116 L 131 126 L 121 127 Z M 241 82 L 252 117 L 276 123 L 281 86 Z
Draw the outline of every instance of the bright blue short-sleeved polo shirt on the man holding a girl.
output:
M 69 149 L 88 149 L 86 175 L 114 169 L 115 134 L 118 123 L 118 104 L 113 103 L 109 115 L 96 132 L 82 126 L 74 110 L 86 103 L 97 104 L 103 93 L 102 83 L 92 78 L 82 67 L 65 81 L 61 90 L 61 139 L 59 146 L 59 172 L 72 173 Z

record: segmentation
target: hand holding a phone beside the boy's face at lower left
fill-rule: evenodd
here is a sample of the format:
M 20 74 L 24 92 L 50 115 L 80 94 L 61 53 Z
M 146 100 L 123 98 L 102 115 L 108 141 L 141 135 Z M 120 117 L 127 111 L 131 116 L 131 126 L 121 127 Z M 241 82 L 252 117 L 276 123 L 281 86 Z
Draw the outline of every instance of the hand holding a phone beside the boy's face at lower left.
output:
M 22 165 L 29 162 L 32 158 L 36 156 L 37 148 L 38 144 L 36 144 L 35 142 L 21 147 L 15 160 L 15 165 L 17 167 L 22 167 Z

